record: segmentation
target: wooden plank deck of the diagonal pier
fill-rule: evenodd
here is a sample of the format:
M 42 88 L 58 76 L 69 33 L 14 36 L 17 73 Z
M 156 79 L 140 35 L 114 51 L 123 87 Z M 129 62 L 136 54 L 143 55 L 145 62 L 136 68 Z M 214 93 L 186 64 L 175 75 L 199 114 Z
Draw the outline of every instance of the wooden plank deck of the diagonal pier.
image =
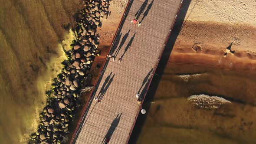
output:
M 141 106 L 135 95 L 145 95 L 180 7 L 181 0 L 128 3 L 110 50 L 115 62 L 106 60 L 71 143 L 101 144 L 106 137 L 111 137 L 110 144 L 128 142 Z M 137 12 L 138 22 L 144 17 L 139 28 L 130 23 Z M 101 98 L 101 103 L 93 97 Z

